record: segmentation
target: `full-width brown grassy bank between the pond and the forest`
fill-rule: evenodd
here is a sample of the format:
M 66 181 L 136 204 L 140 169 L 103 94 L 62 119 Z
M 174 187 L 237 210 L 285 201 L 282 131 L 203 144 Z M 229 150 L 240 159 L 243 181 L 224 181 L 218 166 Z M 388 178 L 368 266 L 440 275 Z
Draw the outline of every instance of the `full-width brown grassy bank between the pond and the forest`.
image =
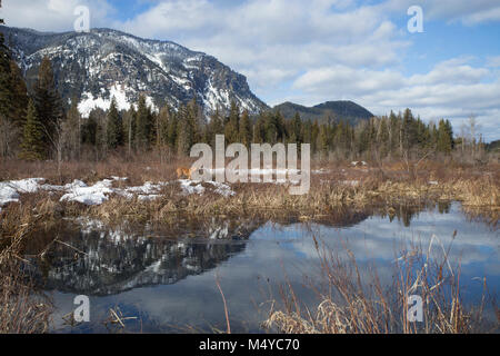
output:
M 188 166 L 188 161 L 159 165 L 154 160 L 122 161 L 111 159 L 98 164 L 66 164 L 62 176 L 50 169 L 50 164 L 7 162 L 3 179 L 43 177 L 49 184 L 68 184 L 81 179 L 92 185 L 112 176 L 127 177 L 126 181 L 113 182 L 117 187 L 143 185 L 147 181 L 169 182 L 152 200 L 126 199 L 111 195 L 99 206 L 83 206 L 78 202 L 60 202 L 57 192 L 26 194 L 21 205 L 30 207 L 33 214 L 50 219 L 89 216 L 109 224 L 152 222 L 173 225 L 182 220 L 199 220 L 214 216 L 223 218 L 250 217 L 256 219 L 293 218 L 320 220 L 342 207 L 364 209 L 379 206 L 388 214 L 401 204 L 426 201 L 461 201 L 471 215 L 483 216 L 496 225 L 500 210 L 500 167 L 480 168 L 453 166 L 426 161 L 419 170 L 407 169 L 404 165 L 392 164 L 380 167 L 352 168 L 348 162 L 312 167 L 311 189 L 302 196 L 291 196 L 287 185 L 236 184 L 233 196 L 221 196 L 209 189 L 204 194 L 182 194 L 176 181 L 176 167 Z M 22 174 L 21 174 L 22 171 Z M 197 184 L 193 184 L 193 186 Z M 207 184 L 201 184 L 207 186 Z M 2 219 L 18 215 L 17 204 L 3 209 Z

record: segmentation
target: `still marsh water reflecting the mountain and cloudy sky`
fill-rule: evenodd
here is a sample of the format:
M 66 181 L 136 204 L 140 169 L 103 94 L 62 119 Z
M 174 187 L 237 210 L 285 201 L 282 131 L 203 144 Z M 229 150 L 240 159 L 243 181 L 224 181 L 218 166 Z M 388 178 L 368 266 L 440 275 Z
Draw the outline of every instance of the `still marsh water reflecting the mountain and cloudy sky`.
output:
M 458 202 L 401 206 L 390 214 L 340 211 L 319 222 L 221 218 L 176 233 L 68 221 L 51 234 L 58 241 L 33 263 L 53 300 L 53 333 L 123 332 L 107 323 L 110 309 L 122 316 L 126 332 L 224 330 L 217 279 L 232 332 L 262 333 L 272 300 L 280 300 L 280 285 L 290 284 L 311 308 L 318 305 L 307 283 L 319 276 L 314 239 L 333 251 L 348 247 L 360 266 L 377 266 L 382 284 L 390 284 L 401 243 L 427 248 L 433 238 L 436 248 L 452 244 L 449 257 L 461 264 L 466 303 L 479 303 L 483 277 L 490 295 L 500 287 L 498 227 L 468 218 Z M 29 246 L 28 254 L 38 249 Z M 89 297 L 90 323 L 71 325 L 64 316 L 77 308 L 78 295 Z

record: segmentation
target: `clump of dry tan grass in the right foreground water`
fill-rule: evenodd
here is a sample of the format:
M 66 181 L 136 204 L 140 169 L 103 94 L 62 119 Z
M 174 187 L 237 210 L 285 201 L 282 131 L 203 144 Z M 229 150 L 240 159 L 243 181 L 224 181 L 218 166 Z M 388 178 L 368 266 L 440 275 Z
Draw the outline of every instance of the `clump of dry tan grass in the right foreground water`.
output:
M 428 248 L 411 245 L 394 263 L 394 281 L 382 286 L 374 266 L 359 267 L 346 247 L 334 254 L 314 239 L 321 261 L 321 280 L 309 281 L 319 297 L 316 310 L 298 299 L 290 284 L 281 286 L 282 308 L 273 307 L 263 327 L 286 334 L 468 334 L 498 332 L 499 310 L 490 298 L 497 320 L 487 322 L 487 286 L 477 307 L 467 307 L 460 296 L 460 266 L 452 268 L 446 249 L 433 238 Z M 451 247 L 451 246 L 450 246 Z M 439 254 L 436 254 L 438 250 Z M 438 255 L 438 256 L 436 256 Z M 408 297 L 423 299 L 423 323 L 408 319 Z

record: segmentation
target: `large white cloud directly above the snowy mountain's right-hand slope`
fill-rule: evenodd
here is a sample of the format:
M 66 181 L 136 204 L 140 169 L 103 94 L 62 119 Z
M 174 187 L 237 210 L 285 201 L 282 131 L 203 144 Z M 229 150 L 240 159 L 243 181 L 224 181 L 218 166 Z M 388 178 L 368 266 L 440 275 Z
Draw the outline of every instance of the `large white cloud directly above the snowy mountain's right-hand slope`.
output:
M 258 95 L 310 68 L 393 65 L 399 49 L 409 46 L 383 12 L 353 1 L 248 0 L 220 7 L 171 0 L 117 26 L 213 55 L 246 73 Z

